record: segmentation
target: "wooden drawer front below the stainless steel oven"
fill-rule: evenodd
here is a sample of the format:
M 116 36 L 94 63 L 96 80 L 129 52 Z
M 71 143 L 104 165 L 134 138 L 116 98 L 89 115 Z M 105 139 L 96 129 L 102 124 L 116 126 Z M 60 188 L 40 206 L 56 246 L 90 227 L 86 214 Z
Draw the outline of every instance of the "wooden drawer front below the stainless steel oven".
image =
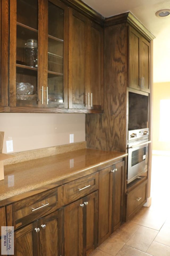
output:
M 127 194 L 127 217 L 146 200 L 147 181 L 140 184 Z

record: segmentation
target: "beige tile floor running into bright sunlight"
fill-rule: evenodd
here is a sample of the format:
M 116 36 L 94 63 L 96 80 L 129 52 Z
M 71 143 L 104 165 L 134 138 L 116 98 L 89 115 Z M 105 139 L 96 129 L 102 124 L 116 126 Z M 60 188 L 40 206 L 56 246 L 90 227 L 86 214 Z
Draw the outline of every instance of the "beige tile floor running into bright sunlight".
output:
M 150 207 L 142 207 L 90 256 L 170 256 L 170 157 L 152 156 Z

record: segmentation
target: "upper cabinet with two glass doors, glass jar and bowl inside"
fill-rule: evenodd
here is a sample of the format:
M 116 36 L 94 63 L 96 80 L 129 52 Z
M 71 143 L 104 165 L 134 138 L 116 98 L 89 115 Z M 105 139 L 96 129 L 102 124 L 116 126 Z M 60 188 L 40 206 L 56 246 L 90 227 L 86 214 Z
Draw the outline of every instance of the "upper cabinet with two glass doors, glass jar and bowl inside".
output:
M 67 18 L 57 0 L 10 3 L 10 107 L 67 107 Z

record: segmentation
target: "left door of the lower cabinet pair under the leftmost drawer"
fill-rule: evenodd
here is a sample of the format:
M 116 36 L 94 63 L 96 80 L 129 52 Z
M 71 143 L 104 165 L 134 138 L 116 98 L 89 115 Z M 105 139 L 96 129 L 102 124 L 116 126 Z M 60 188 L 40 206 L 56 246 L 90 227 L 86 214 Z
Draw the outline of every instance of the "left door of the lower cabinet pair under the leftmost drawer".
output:
M 35 229 L 39 228 L 38 221 L 31 223 L 14 234 L 14 255 L 15 256 L 39 256 L 39 232 Z M 38 231 L 38 230 L 37 230 Z

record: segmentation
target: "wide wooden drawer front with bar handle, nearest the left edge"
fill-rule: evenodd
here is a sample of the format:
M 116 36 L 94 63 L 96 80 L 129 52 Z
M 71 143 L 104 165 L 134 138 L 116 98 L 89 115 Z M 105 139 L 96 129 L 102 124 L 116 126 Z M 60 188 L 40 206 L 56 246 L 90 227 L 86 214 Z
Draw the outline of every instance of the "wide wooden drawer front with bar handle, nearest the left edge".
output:
M 7 206 L 7 224 L 15 229 L 43 217 L 62 206 L 62 186 Z

